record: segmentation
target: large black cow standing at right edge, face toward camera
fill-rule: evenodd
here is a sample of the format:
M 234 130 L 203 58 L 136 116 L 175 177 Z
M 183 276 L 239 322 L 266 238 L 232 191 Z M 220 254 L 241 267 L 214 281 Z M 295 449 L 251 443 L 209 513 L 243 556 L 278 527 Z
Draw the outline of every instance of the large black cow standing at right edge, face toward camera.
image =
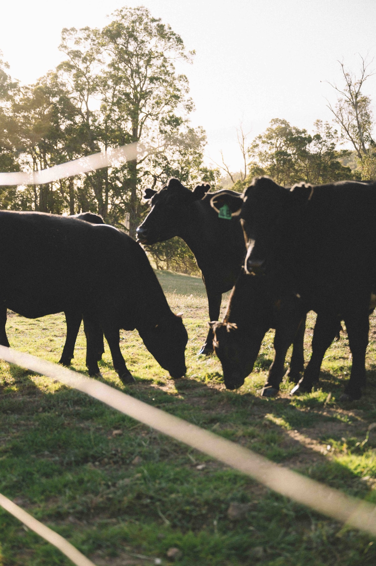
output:
M 287 190 L 261 177 L 244 191 L 240 211 L 247 235 L 245 269 L 266 275 L 276 292 L 297 294 L 305 311 L 317 312 L 321 352 L 338 320 L 344 320 L 353 363 L 342 400 L 359 399 L 365 385 L 376 281 L 375 189 L 375 183 L 340 181 Z M 318 372 L 318 364 L 307 367 L 293 392 L 310 391 Z

